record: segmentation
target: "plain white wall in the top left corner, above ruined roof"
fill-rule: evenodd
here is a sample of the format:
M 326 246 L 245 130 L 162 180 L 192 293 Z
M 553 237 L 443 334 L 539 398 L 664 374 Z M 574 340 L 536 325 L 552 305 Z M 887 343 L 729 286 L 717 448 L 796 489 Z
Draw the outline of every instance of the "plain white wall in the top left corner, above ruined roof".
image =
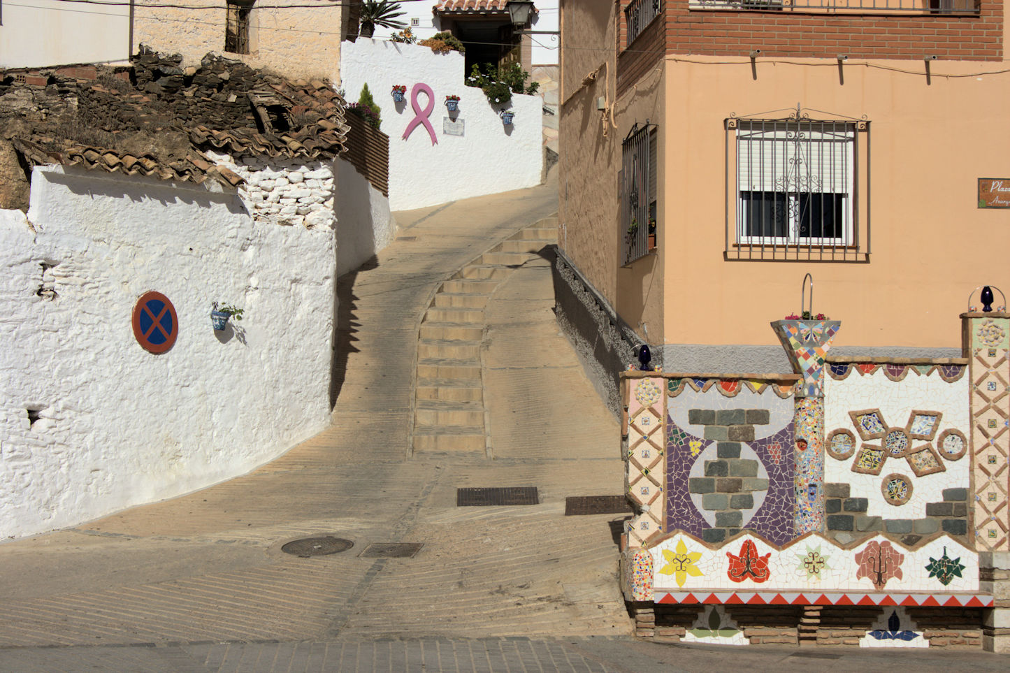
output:
M 3 3 L 0 68 L 121 63 L 129 58 L 129 7 L 60 0 Z

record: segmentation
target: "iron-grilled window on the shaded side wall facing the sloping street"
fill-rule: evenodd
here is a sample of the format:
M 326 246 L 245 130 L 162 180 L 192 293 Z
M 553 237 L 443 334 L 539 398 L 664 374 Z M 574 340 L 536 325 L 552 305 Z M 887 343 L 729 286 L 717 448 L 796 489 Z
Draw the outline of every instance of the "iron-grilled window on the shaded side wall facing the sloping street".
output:
M 621 171 L 621 264 L 648 254 L 655 234 L 658 133 L 655 124 L 635 124 L 624 138 Z

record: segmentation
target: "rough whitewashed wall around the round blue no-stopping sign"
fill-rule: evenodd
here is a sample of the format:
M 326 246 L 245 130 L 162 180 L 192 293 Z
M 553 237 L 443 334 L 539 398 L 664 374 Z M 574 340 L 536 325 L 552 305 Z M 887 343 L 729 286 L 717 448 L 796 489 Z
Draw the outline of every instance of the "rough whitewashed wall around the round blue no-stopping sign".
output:
M 28 221 L 0 211 L 0 536 L 207 486 L 328 424 L 331 227 L 254 221 L 219 189 L 52 167 L 33 172 Z M 148 290 L 179 316 L 162 355 L 132 333 Z M 215 299 L 245 309 L 243 334 L 212 329 Z

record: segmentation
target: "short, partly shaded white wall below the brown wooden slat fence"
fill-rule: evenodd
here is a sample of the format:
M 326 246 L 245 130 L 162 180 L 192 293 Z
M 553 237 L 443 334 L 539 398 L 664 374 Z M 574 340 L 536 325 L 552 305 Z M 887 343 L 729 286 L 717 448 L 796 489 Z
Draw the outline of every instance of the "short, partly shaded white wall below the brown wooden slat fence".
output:
M 336 276 L 339 278 L 393 243 L 396 219 L 389 199 L 372 186 L 350 162 L 335 162 Z

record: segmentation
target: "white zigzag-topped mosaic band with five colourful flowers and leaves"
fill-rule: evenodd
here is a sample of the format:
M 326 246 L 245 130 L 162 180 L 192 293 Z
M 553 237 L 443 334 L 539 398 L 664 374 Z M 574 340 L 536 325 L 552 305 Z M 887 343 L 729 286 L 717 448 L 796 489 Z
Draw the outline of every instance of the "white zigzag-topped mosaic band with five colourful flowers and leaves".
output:
M 676 532 L 649 552 L 658 600 L 661 591 L 690 591 L 697 596 L 724 591 L 783 592 L 784 587 L 790 593 L 805 593 L 808 599 L 811 593 L 822 592 L 979 594 L 979 555 L 942 535 L 915 548 L 875 536 L 846 549 L 819 534 L 779 546 L 749 533 L 709 545 Z M 925 595 L 913 604 L 924 603 L 928 604 Z

